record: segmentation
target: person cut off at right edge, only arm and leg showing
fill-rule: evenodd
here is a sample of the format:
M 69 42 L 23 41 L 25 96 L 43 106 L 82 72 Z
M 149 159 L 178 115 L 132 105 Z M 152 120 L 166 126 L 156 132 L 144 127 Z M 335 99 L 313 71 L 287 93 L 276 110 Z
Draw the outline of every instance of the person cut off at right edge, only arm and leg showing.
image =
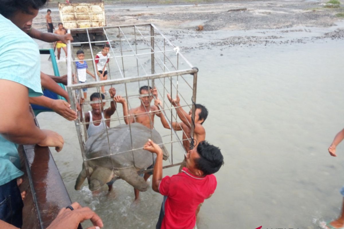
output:
M 339 133 L 334 137 L 331 146 L 329 147 L 329 153 L 332 157 L 337 157 L 336 154 L 336 147 L 340 142 L 344 139 L 344 129 L 339 131 Z M 344 186 L 341 188 L 341 194 L 344 196 Z M 344 228 L 344 199 L 342 204 L 342 214 L 336 220 L 331 222 L 327 222 L 325 228 L 333 229 L 333 228 Z

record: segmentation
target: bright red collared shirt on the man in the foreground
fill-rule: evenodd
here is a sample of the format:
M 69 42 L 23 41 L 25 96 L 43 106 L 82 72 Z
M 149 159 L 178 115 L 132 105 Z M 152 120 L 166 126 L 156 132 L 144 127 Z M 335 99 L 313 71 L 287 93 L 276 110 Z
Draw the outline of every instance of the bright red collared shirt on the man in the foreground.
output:
M 196 209 L 214 193 L 216 184 L 213 174 L 200 178 L 185 167 L 176 175 L 165 176 L 159 184 L 159 192 L 167 196 L 161 228 L 194 228 Z

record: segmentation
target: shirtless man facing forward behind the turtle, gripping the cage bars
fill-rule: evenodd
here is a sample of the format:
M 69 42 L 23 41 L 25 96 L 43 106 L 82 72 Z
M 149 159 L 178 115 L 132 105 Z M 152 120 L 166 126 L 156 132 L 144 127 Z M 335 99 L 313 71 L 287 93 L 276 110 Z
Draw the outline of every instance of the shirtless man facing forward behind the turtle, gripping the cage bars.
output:
M 149 95 L 149 92 L 151 92 L 155 98 L 153 106 L 151 106 L 151 101 L 153 99 L 153 96 Z M 148 86 L 142 86 L 139 89 L 140 93 L 140 100 L 141 105 L 131 109 L 128 112 L 128 105 L 125 98 L 122 98 L 122 96 L 117 95 L 114 97 L 114 101 L 117 103 L 121 103 L 123 106 L 123 116 L 124 121 L 126 124 L 129 123 L 141 123 L 142 125 L 153 129 L 154 128 L 154 115 L 157 115 L 158 117 L 162 116 L 160 110 L 158 109 L 157 105 L 160 102 L 158 99 L 158 91 L 156 88 L 152 89 L 151 87 L 148 88 Z M 129 113 L 129 115 L 128 115 Z M 152 167 L 153 168 L 153 167 Z M 148 167 L 150 169 L 150 167 Z M 147 179 L 150 177 L 152 173 L 145 173 L 143 176 L 143 179 L 147 181 Z M 135 193 L 135 201 L 139 199 L 139 190 L 134 188 Z

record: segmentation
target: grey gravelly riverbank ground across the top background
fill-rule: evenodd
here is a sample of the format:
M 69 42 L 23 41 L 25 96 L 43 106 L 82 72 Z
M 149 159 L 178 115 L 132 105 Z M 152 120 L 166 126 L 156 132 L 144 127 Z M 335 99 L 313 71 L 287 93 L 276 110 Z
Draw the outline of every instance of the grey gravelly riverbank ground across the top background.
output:
M 160 3 L 163 1 L 159 1 Z M 197 3 L 196 3 L 197 2 Z M 211 43 L 214 46 L 255 45 L 270 43 L 304 42 L 304 38 L 286 39 L 281 41 L 283 33 L 312 32 L 312 27 L 331 27 L 343 21 L 337 13 L 343 13 L 344 7 L 325 8 L 326 1 L 173 1 L 157 4 L 157 1 L 106 1 L 105 13 L 107 25 L 127 25 L 154 23 L 164 33 L 178 39 L 185 33 L 190 38 L 197 37 L 194 33 L 197 25 L 203 25 L 203 31 L 248 31 L 262 30 L 262 36 L 235 35 Z M 213 3 L 209 3 L 213 2 Z M 176 5 L 179 3 L 179 5 Z M 60 20 L 57 3 L 50 2 L 48 7 L 53 11 L 55 27 Z M 240 11 L 233 11 L 244 9 Z M 34 26 L 45 30 L 46 9 L 34 19 Z M 266 30 L 283 29 L 281 36 L 266 35 Z M 201 35 L 202 31 L 198 32 Z M 268 32 L 267 32 L 268 33 Z M 290 36 L 290 35 L 288 35 Z M 311 35 L 310 39 L 333 38 L 343 39 L 344 30 L 337 28 L 321 35 Z M 278 39 L 278 41 L 276 41 Z M 202 44 L 197 44 L 198 47 Z

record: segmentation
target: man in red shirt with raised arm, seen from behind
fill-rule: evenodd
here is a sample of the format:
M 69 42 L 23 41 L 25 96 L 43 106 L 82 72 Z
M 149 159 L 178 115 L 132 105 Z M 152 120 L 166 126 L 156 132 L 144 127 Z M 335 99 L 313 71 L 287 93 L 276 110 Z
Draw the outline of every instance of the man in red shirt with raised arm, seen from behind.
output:
M 219 148 L 201 141 L 186 154 L 182 172 L 162 178 L 162 150 L 152 140 L 143 149 L 157 154 L 152 189 L 164 195 L 156 228 L 192 229 L 196 225 L 196 209 L 210 198 L 216 188 L 216 173 L 223 165 Z

